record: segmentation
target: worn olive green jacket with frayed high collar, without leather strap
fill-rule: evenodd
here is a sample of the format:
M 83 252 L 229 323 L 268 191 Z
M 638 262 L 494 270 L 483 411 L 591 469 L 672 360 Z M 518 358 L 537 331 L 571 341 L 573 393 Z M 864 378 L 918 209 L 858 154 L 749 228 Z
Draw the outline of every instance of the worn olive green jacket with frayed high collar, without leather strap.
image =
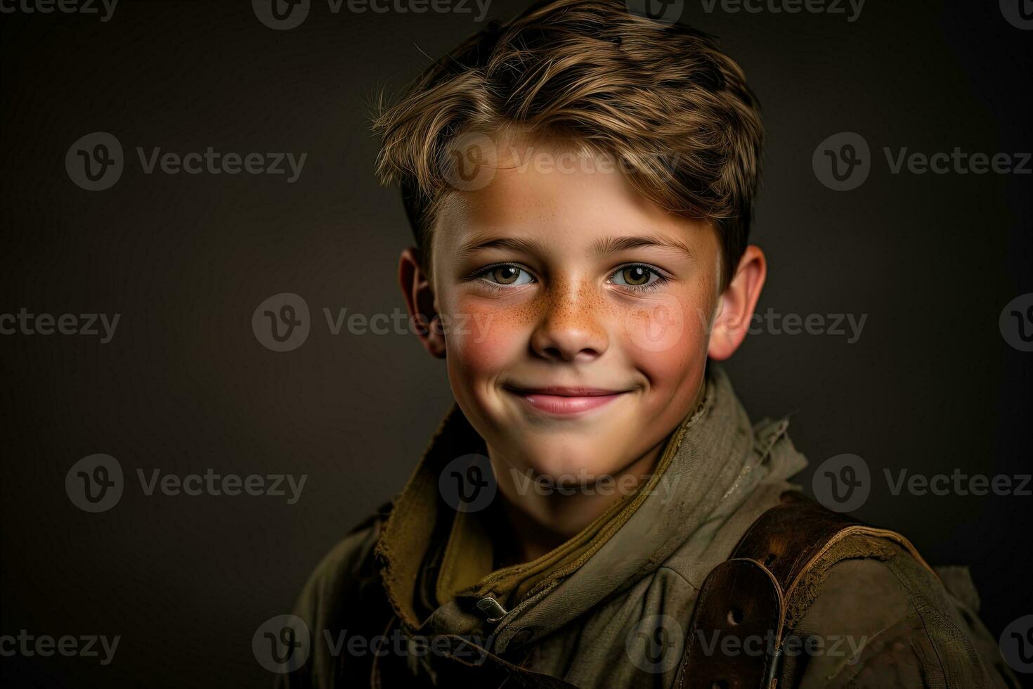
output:
M 711 364 L 705 400 L 671 434 L 666 466 L 588 557 L 508 609 L 474 586 L 428 614 L 417 582 L 455 515 L 439 474 L 476 441 L 453 407 L 394 506 L 347 535 L 305 585 L 294 610 L 309 638 L 295 659 L 304 663 L 278 686 L 672 687 L 707 574 L 806 466 L 787 426 L 752 425 Z M 1006 686 L 977 607 L 963 568 L 938 576 L 897 545 L 858 550 L 797 605 L 777 686 Z M 766 643 L 701 640 L 724 654 Z

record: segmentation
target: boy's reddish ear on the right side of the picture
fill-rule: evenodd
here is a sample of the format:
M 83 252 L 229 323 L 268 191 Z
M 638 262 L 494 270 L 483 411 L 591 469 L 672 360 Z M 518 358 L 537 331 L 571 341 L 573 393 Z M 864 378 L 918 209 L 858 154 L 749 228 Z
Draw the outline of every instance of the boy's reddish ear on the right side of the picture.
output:
M 711 325 L 708 356 L 718 362 L 726 359 L 743 344 L 766 276 L 764 252 L 751 244 L 746 247 L 739 261 L 735 276 L 718 299 L 717 315 Z

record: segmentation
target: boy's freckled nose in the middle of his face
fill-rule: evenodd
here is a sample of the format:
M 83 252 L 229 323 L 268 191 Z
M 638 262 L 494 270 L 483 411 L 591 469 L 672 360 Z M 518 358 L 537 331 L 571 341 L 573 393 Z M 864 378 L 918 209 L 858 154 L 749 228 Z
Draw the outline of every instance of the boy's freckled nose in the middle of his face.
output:
M 531 349 L 554 362 L 587 363 L 609 346 L 601 319 L 602 301 L 587 284 L 557 284 L 543 295 Z

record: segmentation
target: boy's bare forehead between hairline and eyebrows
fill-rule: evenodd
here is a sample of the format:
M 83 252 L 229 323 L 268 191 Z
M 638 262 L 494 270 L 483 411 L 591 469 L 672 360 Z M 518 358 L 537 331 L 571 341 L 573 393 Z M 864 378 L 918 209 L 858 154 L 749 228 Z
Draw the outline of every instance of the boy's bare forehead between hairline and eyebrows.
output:
M 524 236 L 576 249 L 614 236 L 656 236 L 714 244 L 709 223 L 666 212 L 640 195 L 609 156 L 562 142 L 496 139 L 484 158 L 489 181 L 453 190 L 441 201 L 434 253 L 449 252 L 477 236 Z M 716 244 L 714 244 L 716 248 Z

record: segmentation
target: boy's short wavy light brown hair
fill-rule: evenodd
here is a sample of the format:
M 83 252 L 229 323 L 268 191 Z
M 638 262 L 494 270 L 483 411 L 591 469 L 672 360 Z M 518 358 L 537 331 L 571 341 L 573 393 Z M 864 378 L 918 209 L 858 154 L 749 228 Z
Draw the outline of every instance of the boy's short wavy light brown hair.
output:
M 394 103 L 381 95 L 377 176 L 398 184 L 425 270 L 448 183 L 449 145 L 519 128 L 614 156 L 638 193 L 714 223 L 722 288 L 747 246 L 760 180 L 760 105 L 713 36 L 628 10 L 551 0 L 492 22 Z

